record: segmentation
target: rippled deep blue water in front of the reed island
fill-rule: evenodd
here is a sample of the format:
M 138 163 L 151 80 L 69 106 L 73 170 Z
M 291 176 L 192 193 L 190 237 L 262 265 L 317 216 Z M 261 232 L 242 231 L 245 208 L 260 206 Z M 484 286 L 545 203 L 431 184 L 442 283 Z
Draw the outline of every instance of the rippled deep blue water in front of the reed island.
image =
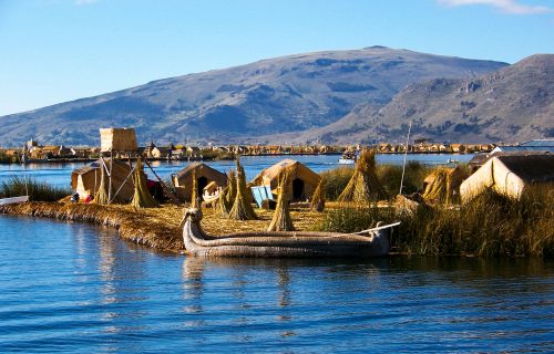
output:
M 554 352 L 544 260 L 201 260 L 0 216 L 0 352 Z

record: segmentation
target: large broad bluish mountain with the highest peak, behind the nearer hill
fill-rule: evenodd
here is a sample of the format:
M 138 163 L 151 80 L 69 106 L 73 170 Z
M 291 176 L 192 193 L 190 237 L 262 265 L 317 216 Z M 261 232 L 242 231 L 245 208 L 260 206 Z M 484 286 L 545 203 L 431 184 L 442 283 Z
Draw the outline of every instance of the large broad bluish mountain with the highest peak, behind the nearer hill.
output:
M 138 140 L 230 143 L 319 128 L 360 103 L 382 106 L 409 84 L 472 80 L 506 63 L 371 46 L 263 60 L 0 117 L 0 144 L 34 137 L 98 145 L 100 127 L 133 126 Z

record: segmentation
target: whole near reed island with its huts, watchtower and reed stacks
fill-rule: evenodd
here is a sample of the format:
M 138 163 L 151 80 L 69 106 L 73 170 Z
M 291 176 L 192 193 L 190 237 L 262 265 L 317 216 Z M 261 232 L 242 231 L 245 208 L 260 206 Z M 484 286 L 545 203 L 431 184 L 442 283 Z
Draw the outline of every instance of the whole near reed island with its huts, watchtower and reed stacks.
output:
M 388 254 L 554 256 L 550 152 L 496 152 L 447 167 L 378 165 L 379 147 L 361 148 L 351 166 L 320 174 L 286 158 L 248 181 L 237 159 L 234 170 L 195 162 L 162 180 L 137 149 L 134 131 L 102 131 L 99 159 L 73 170 L 71 189 L 14 176 L 0 184 L 0 214 L 106 225 L 170 252 L 187 252 L 184 216 L 196 210 L 206 235 L 229 247 L 238 231 L 261 239 L 288 231 L 353 237 L 384 222 L 394 225 Z M 14 202 L 20 196 L 30 201 Z

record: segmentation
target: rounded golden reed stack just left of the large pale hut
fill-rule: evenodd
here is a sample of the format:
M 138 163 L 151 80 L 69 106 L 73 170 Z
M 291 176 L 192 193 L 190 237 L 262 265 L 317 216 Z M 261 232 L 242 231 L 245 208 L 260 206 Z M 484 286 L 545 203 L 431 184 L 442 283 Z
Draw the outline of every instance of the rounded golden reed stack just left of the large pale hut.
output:
M 460 195 L 460 185 L 466 177 L 460 167 L 439 167 L 423 180 L 423 200 L 452 202 Z

